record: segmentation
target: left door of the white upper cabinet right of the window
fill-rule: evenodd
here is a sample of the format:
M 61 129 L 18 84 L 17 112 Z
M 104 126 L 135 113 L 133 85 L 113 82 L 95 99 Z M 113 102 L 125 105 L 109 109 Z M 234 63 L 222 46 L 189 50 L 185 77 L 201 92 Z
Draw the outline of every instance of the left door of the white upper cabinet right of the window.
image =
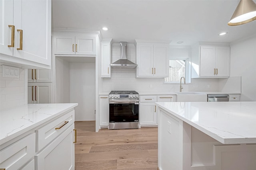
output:
M 215 47 L 200 47 L 200 76 L 212 77 L 215 69 Z

